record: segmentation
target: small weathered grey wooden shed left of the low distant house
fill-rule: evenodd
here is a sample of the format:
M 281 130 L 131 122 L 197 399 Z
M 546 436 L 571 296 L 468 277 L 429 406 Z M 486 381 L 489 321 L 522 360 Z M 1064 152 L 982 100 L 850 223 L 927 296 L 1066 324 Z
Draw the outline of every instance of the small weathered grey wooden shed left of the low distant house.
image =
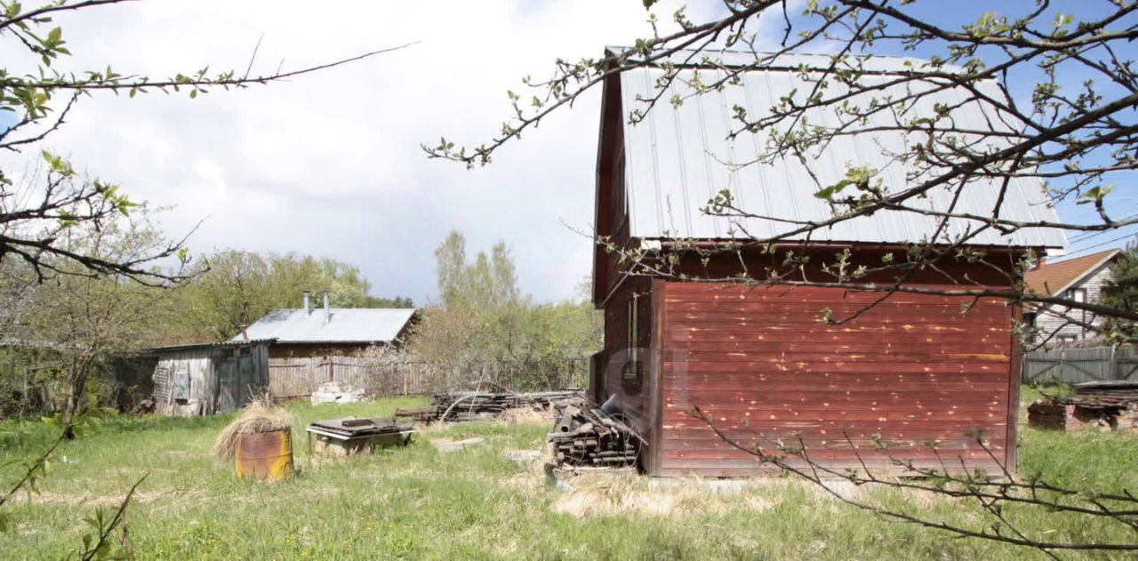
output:
M 269 387 L 271 339 L 151 349 L 155 412 L 211 415 L 242 407 Z

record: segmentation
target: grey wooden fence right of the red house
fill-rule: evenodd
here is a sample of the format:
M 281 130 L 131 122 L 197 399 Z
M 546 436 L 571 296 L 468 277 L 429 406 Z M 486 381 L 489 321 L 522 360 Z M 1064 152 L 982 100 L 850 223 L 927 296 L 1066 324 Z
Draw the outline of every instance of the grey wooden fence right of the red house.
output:
M 1138 381 L 1138 348 L 1069 347 L 1032 350 L 1023 357 L 1024 383 Z

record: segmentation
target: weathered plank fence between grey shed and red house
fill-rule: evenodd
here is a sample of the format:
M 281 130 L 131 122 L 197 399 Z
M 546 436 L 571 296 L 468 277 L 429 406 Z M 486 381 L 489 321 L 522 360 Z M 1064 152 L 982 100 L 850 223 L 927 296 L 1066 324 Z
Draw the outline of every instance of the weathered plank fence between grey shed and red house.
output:
M 376 361 L 354 356 L 269 360 L 269 391 L 274 398 L 312 395 L 327 381 L 363 388 L 369 396 L 420 395 L 488 381 L 512 391 L 582 388 L 588 385 L 588 358 L 502 361 L 453 365 L 427 361 Z

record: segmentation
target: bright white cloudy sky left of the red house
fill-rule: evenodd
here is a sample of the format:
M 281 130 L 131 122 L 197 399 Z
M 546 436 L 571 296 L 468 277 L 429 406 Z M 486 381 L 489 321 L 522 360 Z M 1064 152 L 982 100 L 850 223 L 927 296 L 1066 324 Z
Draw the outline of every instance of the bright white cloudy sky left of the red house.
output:
M 696 17 L 717 2 L 688 2 Z M 703 10 L 701 13 L 701 6 Z M 670 14 L 665 3 L 663 14 Z M 419 41 L 287 83 L 196 100 L 84 99 L 48 148 L 137 200 L 176 205 L 172 234 L 214 248 L 297 251 L 358 265 L 377 296 L 435 294 L 434 248 L 451 229 L 472 250 L 504 239 L 523 290 L 576 295 L 591 270 L 597 94 L 502 150 L 486 168 L 428 160 L 440 135 L 488 140 L 506 89 L 556 57 L 600 56 L 648 28 L 640 1 L 286 2 L 164 0 L 57 22 L 67 68 L 167 76 L 206 64 L 286 69 Z

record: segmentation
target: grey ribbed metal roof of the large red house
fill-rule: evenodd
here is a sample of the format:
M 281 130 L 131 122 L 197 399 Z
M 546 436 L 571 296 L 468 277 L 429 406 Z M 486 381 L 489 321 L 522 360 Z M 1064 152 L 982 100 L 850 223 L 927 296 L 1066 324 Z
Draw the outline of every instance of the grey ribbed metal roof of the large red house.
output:
M 610 52 L 619 52 L 622 48 L 609 48 Z M 673 57 L 673 63 L 687 61 L 699 69 L 703 84 L 712 83 L 721 77 L 724 72 L 708 67 L 701 63 L 703 55 L 692 57 L 693 51 L 682 52 Z M 708 57 L 723 66 L 753 65 L 754 53 L 708 51 Z M 873 57 L 863 59 L 866 73 L 860 77 L 863 83 L 884 83 L 896 80 L 899 73 L 920 72 L 925 61 L 901 57 Z M 814 149 L 809 157 L 800 160 L 795 157 L 777 158 L 774 162 L 752 164 L 732 170 L 726 163 L 742 163 L 753 159 L 764 150 L 770 131 L 756 134 L 742 134 L 731 140 L 733 129 L 740 123 L 734 119 L 734 108 L 745 109 L 748 119 L 757 119 L 770 114 L 770 108 L 778 105 L 780 98 L 809 94 L 814 82 L 802 77 L 800 67 L 824 68 L 831 63 L 828 56 L 819 55 L 783 55 L 772 65 L 760 69 L 741 73 L 737 85 L 727 85 L 721 90 L 710 90 L 699 96 L 687 97 L 692 90 L 684 83 L 691 80 L 693 69 L 679 71 L 678 80 L 671 82 L 668 89 L 659 96 L 652 110 L 646 112 L 643 121 L 625 123 L 625 183 L 628 193 L 628 212 L 630 234 L 643 239 L 695 238 L 695 239 L 729 239 L 743 237 L 772 237 L 797 229 L 798 225 L 764 218 L 725 218 L 709 216 L 700 208 L 724 188 L 729 188 L 735 203 L 751 215 L 773 216 L 783 220 L 819 221 L 833 216 L 827 201 L 815 197 L 818 185 L 834 184 L 846 178 L 847 166 L 869 166 L 881 170 L 879 175 L 884 180 L 891 192 L 900 191 L 910 183 L 906 178 L 913 167 L 891 158 L 887 152 L 906 151 L 915 142 L 925 139 L 923 133 L 900 131 L 863 132 L 853 137 L 838 137 L 825 148 Z M 955 72 L 954 68 L 942 68 Z M 646 109 L 645 100 L 655 98 L 658 79 L 665 71 L 659 68 L 636 68 L 620 74 L 621 109 L 627 115 L 635 109 Z M 931 84 L 909 81 L 906 85 L 890 86 L 876 92 L 879 99 L 885 96 L 897 96 L 906 88 L 918 89 Z M 980 92 L 996 99 L 1003 99 L 998 84 L 992 80 L 973 84 Z M 826 94 L 835 94 L 846 88 L 831 80 Z M 797 90 L 797 94 L 792 91 Z M 668 102 L 674 94 L 684 97 L 683 104 L 673 107 Z M 855 96 L 851 104 L 867 106 L 868 94 Z M 960 127 L 991 130 L 1004 127 L 1000 117 L 992 115 L 991 107 L 982 107 L 975 101 L 963 104 L 967 99 L 959 88 L 946 89 L 929 93 L 917 105 L 914 114 L 900 118 L 920 118 L 932 112 L 934 104 L 954 107 L 950 113 Z M 876 112 L 861 125 L 866 129 L 875 126 L 897 126 L 897 121 L 887 115 L 889 112 Z M 813 125 L 834 126 L 838 124 L 835 108 L 814 109 L 808 114 Z M 1007 122 L 1013 122 L 1008 118 Z M 997 140 L 986 139 L 991 146 Z M 813 178 L 811 178 L 813 175 Z M 815 182 L 815 179 L 817 182 Z M 910 199 L 909 205 L 927 205 L 930 208 L 945 211 L 955 208 L 959 214 L 988 216 L 997 204 L 999 185 L 995 181 L 976 181 L 964 188 L 963 195 L 954 207 L 953 193 L 948 189 L 933 189 L 924 199 Z M 1055 211 L 1049 205 L 1042 182 L 1017 178 L 1011 182 L 1009 192 L 1005 197 L 1000 213 L 1001 218 L 1013 221 L 1056 221 Z M 953 241 L 966 231 L 975 230 L 978 222 L 956 220 L 948 225 Z M 904 244 L 918 241 L 931 237 L 937 228 L 933 217 L 898 211 L 879 211 L 872 216 L 852 218 L 831 228 L 818 229 L 809 233 L 816 241 Z M 734 232 L 733 232 L 734 230 Z M 803 239 L 806 234 L 791 239 Z M 970 244 L 981 246 L 1046 247 L 1062 249 L 1066 246 L 1066 237 L 1057 229 L 1021 229 L 1011 234 L 1001 234 L 988 229 L 972 238 Z

